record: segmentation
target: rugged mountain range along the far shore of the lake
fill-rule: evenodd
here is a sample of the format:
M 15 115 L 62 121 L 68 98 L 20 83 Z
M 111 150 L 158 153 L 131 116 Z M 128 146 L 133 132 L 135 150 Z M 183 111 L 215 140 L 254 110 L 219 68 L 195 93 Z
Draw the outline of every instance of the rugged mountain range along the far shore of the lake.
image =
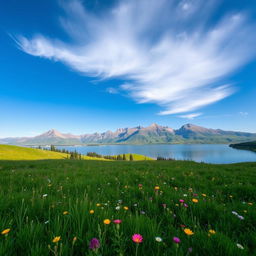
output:
M 148 127 L 119 128 L 116 131 L 73 135 L 55 129 L 35 137 L 10 137 L 0 139 L 0 144 L 10 145 L 88 145 L 88 144 L 157 144 L 157 143 L 237 143 L 256 140 L 256 133 L 209 129 L 185 124 L 179 129 L 156 123 Z

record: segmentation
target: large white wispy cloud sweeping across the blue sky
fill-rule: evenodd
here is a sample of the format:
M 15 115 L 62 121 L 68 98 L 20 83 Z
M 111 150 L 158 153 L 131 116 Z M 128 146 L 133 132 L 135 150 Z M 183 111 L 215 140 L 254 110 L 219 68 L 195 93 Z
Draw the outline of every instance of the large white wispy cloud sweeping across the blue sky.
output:
M 123 79 L 119 89 L 138 103 L 162 106 L 159 114 L 185 113 L 232 94 L 224 79 L 255 56 L 254 25 L 242 13 L 213 23 L 214 3 L 123 0 L 96 15 L 79 1 L 63 2 L 61 25 L 69 42 L 16 38 L 33 56 L 86 76 Z

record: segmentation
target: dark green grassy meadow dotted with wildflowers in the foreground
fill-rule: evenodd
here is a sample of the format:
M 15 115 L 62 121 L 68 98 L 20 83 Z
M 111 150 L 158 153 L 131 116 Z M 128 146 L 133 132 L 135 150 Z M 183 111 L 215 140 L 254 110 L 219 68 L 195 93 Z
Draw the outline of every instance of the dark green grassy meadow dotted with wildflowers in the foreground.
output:
M 0 255 L 256 255 L 256 163 L 0 161 L 0 175 Z

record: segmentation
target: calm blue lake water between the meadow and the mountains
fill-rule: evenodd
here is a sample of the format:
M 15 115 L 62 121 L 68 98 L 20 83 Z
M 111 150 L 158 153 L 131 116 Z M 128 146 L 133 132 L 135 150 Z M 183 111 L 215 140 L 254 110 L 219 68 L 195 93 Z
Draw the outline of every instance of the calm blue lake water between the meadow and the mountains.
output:
M 230 148 L 224 144 L 192 145 L 103 145 L 103 146 L 59 146 L 59 149 L 76 150 L 79 153 L 96 152 L 101 155 L 136 153 L 157 158 L 170 157 L 177 160 L 193 160 L 205 163 L 256 162 L 256 153 Z

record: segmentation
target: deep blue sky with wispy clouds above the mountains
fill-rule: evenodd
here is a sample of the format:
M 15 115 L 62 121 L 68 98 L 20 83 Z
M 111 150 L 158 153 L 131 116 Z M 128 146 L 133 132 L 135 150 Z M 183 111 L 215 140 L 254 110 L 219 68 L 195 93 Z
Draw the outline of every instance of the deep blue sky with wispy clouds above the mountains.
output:
M 194 123 L 256 132 L 254 1 L 0 4 L 0 137 Z

